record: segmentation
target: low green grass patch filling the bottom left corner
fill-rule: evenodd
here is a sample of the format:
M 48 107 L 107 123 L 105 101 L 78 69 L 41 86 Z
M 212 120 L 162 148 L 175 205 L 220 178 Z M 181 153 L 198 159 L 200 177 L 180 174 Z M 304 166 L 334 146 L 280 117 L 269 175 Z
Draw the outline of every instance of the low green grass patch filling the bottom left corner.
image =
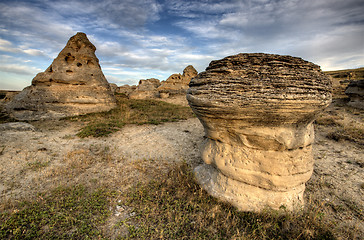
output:
M 109 215 L 106 190 L 57 188 L 9 207 L 0 215 L 0 239 L 99 239 Z

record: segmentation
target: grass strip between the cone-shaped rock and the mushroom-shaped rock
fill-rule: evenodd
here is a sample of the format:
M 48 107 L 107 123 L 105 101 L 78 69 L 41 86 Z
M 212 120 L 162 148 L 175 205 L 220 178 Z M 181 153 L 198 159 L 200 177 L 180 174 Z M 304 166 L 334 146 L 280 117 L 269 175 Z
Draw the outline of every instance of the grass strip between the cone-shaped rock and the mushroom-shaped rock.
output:
M 117 108 L 103 113 L 68 117 L 70 121 L 87 122 L 77 134 L 79 137 L 104 137 L 119 131 L 125 124 L 160 124 L 194 117 L 189 107 L 157 100 L 128 99 L 116 95 Z

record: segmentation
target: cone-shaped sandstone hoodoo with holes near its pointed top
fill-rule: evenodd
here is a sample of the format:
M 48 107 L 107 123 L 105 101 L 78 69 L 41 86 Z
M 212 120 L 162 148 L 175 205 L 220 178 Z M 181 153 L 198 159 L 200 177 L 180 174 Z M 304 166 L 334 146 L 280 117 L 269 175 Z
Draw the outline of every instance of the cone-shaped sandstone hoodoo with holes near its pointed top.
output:
M 95 51 L 86 34 L 71 37 L 48 69 L 7 104 L 7 111 L 19 120 L 38 120 L 116 107 Z

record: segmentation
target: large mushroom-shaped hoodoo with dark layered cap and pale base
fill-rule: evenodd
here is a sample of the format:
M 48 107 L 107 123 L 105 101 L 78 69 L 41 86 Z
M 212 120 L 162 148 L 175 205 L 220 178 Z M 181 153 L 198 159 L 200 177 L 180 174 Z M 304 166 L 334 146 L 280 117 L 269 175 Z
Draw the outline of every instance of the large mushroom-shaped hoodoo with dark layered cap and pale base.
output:
M 312 122 L 331 102 L 320 67 L 252 53 L 212 61 L 187 100 L 205 128 L 195 174 L 210 194 L 240 210 L 303 204 L 313 171 Z

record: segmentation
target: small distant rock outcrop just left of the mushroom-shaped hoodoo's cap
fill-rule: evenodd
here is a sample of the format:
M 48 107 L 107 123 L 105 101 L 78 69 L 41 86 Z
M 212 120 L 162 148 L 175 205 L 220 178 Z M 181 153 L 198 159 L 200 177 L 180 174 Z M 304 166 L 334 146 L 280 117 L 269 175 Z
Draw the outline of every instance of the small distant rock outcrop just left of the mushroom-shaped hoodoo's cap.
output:
M 158 87 L 159 96 L 161 98 L 167 98 L 172 95 L 186 94 L 188 84 L 193 77 L 197 76 L 197 71 L 192 65 L 188 65 L 182 75 L 175 73 L 169 76 L 169 78 L 162 82 L 161 86 Z

